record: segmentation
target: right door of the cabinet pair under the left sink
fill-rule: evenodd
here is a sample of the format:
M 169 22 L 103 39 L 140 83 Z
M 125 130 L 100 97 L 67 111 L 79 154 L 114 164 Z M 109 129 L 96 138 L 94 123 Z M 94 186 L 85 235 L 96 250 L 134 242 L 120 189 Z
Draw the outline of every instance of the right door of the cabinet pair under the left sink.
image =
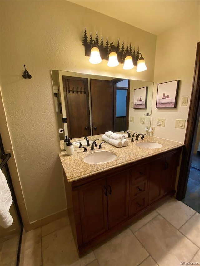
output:
M 129 171 L 123 171 L 107 180 L 109 228 L 128 218 Z

